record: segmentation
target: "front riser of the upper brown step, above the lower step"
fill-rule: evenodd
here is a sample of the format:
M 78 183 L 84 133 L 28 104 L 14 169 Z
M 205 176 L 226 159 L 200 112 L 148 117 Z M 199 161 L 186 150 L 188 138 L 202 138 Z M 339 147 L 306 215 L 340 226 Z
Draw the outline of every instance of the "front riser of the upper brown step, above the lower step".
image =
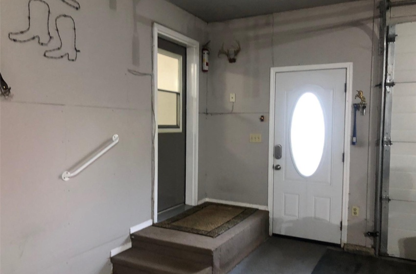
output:
M 132 238 L 132 245 L 134 248 L 151 251 L 164 256 L 171 256 L 176 258 L 186 258 L 189 261 L 212 265 L 212 253 L 205 250 L 198 250 L 196 248 L 189 248 L 187 246 L 177 245 L 172 247 L 166 243 L 147 238 L 135 237 Z

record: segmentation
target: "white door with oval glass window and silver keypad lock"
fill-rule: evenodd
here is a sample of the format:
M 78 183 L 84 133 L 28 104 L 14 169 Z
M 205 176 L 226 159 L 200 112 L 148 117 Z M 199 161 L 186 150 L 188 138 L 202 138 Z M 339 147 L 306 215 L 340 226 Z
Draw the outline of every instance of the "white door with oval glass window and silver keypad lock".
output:
M 276 73 L 273 233 L 341 244 L 346 75 Z

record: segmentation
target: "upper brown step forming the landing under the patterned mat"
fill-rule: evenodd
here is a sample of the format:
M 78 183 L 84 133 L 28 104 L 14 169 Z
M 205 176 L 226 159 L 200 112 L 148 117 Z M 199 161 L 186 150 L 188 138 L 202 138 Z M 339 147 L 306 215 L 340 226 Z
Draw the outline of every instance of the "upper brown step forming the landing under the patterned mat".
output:
M 268 235 L 269 212 L 257 210 L 216 238 L 157 227 L 145 228 L 132 234 L 131 238 L 137 250 L 209 265 L 212 267 L 210 273 L 225 274 L 264 242 Z

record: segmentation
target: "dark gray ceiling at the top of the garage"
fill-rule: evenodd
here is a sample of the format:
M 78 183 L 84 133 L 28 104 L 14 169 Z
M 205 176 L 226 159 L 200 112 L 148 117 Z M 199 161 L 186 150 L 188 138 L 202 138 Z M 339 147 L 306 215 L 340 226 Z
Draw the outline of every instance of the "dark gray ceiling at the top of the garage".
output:
M 167 0 L 205 22 L 318 7 L 353 0 Z

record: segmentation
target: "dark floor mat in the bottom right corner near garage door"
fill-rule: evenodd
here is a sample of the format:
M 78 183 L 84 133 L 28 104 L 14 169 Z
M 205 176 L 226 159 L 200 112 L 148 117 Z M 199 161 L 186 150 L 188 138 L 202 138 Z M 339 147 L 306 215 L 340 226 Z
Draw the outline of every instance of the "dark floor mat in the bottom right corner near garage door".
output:
M 415 274 L 416 264 L 328 249 L 312 274 Z

